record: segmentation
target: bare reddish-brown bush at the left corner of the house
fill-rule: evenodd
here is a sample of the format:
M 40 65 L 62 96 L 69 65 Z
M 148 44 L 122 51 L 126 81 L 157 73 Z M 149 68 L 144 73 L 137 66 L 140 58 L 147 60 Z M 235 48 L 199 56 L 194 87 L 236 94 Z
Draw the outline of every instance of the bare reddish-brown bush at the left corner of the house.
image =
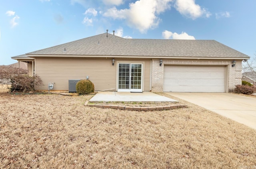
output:
M 0 84 L 11 85 L 10 91 L 28 92 L 34 90 L 34 86 L 41 85 L 40 77 L 28 76 L 28 71 L 13 66 L 0 67 Z

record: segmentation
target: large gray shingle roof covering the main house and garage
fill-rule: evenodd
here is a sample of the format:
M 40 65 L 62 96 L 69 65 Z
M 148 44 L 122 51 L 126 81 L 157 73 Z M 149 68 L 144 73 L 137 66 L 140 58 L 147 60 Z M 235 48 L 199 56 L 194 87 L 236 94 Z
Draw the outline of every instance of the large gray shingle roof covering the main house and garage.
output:
M 110 33 L 108 37 L 103 33 L 27 54 L 249 58 L 215 40 L 124 39 Z

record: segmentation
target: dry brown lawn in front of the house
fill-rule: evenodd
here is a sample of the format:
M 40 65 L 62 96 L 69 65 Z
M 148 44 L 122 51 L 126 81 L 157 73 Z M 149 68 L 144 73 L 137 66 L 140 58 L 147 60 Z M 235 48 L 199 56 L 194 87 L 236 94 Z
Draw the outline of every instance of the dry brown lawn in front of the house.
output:
M 90 97 L 0 93 L 0 168 L 256 169 L 247 126 L 185 101 L 136 112 Z

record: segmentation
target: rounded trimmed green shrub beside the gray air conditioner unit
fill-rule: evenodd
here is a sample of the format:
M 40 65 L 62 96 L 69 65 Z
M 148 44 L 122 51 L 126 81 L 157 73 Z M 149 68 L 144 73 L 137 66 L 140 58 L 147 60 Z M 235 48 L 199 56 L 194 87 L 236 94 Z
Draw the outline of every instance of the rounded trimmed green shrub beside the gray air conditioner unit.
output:
M 76 92 L 78 94 L 90 94 L 94 92 L 94 84 L 90 80 L 81 80 L 76 83 Z

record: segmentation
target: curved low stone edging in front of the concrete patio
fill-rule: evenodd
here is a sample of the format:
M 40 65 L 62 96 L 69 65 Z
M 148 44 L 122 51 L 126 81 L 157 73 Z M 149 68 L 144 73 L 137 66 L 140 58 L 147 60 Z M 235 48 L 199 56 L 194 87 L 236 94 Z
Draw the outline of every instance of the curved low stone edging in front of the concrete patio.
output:
M 121 106 L 121 105 L 112 105 L 112 104 L 88 104 L 89 101 L 86 101 L 84 106 L 96 107 L 96 108 L 112 108 L 119 110 L 131 110 L 131 111 L 158 111 L 158 110 L 172 110 L 176 108 L 188 108 L 187 105 L 178 104 L 178 105 L 169 105 L 169 106 L 152 106 L 152 107 L 138 107 L 138 106 Z

